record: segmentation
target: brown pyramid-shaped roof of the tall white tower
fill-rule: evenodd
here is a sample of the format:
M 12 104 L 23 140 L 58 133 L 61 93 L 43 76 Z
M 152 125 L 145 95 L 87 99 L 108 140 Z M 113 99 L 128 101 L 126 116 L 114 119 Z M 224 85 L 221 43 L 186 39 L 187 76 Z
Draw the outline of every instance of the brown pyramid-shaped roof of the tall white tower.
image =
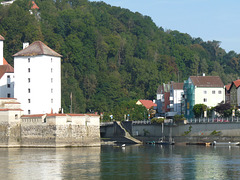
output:
M 14 54 L 14 57 L 17 56 L 37 56 L 37 55 L 49 55 L 49 56 L 56 56 L 62 57 L 62 55 L 58 54 L 46 44 L 41 41 L 35 41 L 25 49 L 19 51 L 18 53 Z

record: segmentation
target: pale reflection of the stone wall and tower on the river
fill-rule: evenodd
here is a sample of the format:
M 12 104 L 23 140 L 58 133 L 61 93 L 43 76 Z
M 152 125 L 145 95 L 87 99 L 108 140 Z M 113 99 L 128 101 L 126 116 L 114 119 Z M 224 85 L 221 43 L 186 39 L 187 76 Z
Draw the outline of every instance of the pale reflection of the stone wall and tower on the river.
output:
M 0 177 L 1 179 L 99 177 L 100 150 L 100 147 L 0 149 Z

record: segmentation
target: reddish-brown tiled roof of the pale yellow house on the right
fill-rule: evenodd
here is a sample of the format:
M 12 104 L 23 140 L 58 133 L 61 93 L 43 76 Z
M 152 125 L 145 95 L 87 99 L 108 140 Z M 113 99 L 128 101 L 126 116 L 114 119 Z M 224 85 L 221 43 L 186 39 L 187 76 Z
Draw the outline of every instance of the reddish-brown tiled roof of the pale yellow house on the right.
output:
M 190 76 L 190 79 L 197 87 L 224 87 L 219 76 Z

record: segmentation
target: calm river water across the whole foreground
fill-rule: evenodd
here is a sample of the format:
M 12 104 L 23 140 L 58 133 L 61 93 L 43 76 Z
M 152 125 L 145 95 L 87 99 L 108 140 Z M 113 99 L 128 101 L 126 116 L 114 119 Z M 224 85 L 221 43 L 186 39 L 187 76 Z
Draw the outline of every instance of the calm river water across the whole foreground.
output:
M 0 148 L 1 179 L 239 179 L 239 147 Z

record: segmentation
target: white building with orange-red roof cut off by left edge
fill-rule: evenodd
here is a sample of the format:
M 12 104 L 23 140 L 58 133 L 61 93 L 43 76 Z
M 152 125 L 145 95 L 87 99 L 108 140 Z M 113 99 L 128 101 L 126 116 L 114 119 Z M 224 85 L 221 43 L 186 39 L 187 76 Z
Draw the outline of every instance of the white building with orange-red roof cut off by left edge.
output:
M 14 69 L 3 56 L 4 37 L 0 35 L 0 97 L 14 97 Z

